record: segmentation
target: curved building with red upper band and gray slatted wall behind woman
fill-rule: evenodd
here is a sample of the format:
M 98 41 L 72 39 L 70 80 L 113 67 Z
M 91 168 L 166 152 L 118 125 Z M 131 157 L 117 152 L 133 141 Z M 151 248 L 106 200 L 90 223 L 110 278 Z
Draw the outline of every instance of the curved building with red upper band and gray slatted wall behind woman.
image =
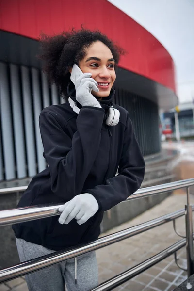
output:
M 174 63 L 162 44 L 106 0 L 0 0 L 0 181 L 29 182 L 46 167 L 38 117 L 64 102 L 36 58 L 38 36 L 81 25 L 99 29 L 127 51 L 121 57 L 114 103 L 129 111 L 143 154 L 161 150 L 159 108 L 178 103 Z M 24 182 L 25 181 L 25 182 Z

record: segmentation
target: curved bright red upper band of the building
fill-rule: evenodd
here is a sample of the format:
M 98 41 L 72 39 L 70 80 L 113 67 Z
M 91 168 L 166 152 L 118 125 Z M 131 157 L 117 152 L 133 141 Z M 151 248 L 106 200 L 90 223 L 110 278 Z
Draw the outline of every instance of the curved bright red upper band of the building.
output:
M 128 54 L 119 66 L 176 92 L 174 63 L 162 44 L 106 0 L 0 0 L 0 29 L 37 39 L 40 32 L 99 29 Z

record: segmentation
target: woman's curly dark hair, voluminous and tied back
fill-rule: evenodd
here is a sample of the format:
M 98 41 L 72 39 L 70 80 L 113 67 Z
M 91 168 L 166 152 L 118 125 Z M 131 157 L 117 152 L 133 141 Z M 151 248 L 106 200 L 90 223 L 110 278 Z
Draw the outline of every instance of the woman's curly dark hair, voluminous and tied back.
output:
M 100 31 L 91 31 L 81 28 L 75 31 L 62 32 L 59 35 L 49 36 L 41 34 L 40 52 L 38 58 L 43 61 L 43 71 L 50 83 L 55 83 L 60 88 L 60 94 L 67 100 L 67 85 L 70 82 L 69 68 L 74 63 L 78 65 L 86 55 L 86 49 L 94 42 L 101 41 L 112 52 L 115 65 L 118 64 L 120 55 L 125 51 L 117 46 Z

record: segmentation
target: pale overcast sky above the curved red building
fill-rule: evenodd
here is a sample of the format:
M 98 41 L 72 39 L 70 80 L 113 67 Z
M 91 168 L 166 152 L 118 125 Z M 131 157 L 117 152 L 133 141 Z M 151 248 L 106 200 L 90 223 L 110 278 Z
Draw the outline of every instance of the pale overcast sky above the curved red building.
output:
M 109 0 L 151 32 L 171 54 L 179 102 L 194 97 L 194 0 Z M 116 20 L 116 19 L 115 19 Z

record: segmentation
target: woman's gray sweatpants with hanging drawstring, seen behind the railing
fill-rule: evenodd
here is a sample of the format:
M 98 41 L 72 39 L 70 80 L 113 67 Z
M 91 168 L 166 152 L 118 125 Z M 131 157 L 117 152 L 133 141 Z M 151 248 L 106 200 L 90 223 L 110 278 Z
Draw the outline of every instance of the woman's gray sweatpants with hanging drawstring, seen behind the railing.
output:
M 54 253 L 42 245 L 16 238 L 20 261 Z M 68 259 L 25 276 L 29 291 L 89 291 L 98 285 L 98 268 L 95 252 L 77 257 L 77 284 L 75 259 Z

